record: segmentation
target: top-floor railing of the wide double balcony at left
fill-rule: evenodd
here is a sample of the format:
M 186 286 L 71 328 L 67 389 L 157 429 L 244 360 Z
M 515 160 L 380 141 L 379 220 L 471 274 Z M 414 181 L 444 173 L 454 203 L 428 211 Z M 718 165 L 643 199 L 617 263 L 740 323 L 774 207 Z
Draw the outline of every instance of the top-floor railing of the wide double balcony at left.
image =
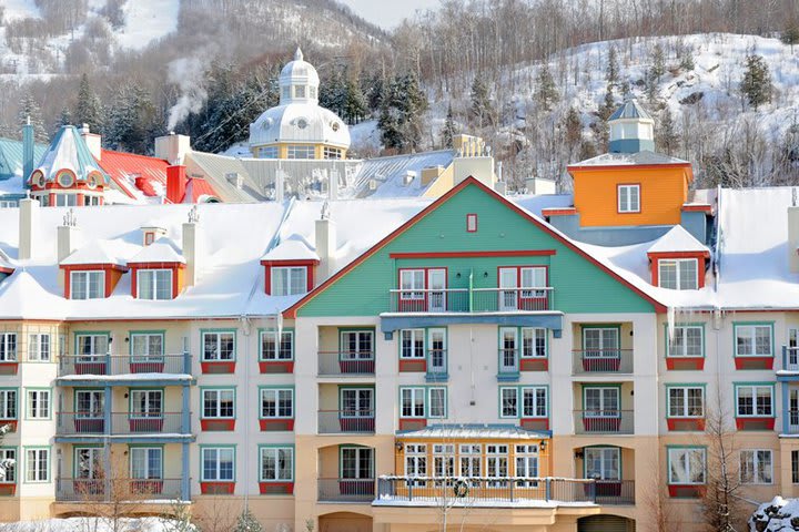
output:
M 59 377 L 121 376 L 142 374 L 191 374 L 191 355 L 135 357 L 130 355 L 62 355 Z

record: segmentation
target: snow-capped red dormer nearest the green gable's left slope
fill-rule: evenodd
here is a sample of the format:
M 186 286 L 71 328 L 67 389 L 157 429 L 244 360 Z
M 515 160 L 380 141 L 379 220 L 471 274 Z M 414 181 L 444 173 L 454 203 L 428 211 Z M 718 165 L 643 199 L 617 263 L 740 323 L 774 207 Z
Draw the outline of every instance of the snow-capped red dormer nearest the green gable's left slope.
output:
M 284 241 L 261 257 L 271 296 L 304 295 L 314 288 L 320 257 L 301 241 Z

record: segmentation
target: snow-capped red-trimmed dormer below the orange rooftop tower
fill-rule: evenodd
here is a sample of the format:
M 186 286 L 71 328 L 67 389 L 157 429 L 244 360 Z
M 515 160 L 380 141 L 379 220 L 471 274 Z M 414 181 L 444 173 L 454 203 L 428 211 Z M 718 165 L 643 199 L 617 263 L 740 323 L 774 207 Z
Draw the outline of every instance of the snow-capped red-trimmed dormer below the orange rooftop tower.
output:
M 674 226 L 647 250 L 651 284 L 675 290 L 705 287 L 710 249 L 681 225 Z

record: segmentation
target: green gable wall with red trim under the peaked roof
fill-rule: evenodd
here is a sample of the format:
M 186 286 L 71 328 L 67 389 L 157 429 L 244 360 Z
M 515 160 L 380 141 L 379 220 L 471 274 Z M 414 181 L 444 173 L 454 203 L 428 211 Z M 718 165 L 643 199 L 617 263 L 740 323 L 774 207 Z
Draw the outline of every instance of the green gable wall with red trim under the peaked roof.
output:
M 476 232 L 467 231 L 467 214 L 477 215 Z M 309 294 L 287 315 L 390 313 L 390 289 L 398 288 L 402 268 L 446 268 L 449 289 L 496 289 L 500 266 L 546 266 L 548 286 L 554 288 L 548 310 L 555 313 L 661 309 L 546 224 L 469 178 Z

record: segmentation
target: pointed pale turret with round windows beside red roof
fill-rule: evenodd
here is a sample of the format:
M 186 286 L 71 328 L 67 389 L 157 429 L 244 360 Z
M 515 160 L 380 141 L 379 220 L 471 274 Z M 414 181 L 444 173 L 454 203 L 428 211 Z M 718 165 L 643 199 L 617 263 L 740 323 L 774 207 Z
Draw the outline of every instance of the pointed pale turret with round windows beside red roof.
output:
M 74 125 L 62 125 L 39 166 L 30 194 L 42 206 L 102 205 L 110 183 Z

